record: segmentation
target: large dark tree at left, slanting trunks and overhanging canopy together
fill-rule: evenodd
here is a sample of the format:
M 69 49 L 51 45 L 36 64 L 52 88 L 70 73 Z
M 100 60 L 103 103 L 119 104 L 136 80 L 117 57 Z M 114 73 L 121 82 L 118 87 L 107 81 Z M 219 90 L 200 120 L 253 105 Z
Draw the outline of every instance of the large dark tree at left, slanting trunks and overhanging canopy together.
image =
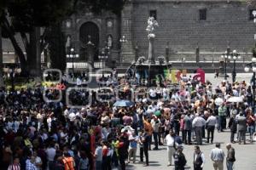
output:
M 41 76 L 41 53 L 46 42 L 41 27 L 49 27 L 60 22 L 73 11 L 73 0 L 9 0 L 1 17 L 3 32 L 12 42 L 19 56 L 24 75 Z M 10 21 L 8 20 L 10 19 Z M 47 29 L 44 29 L 47 31 Z M 15 39 L 20 33 L 26 57 Z

